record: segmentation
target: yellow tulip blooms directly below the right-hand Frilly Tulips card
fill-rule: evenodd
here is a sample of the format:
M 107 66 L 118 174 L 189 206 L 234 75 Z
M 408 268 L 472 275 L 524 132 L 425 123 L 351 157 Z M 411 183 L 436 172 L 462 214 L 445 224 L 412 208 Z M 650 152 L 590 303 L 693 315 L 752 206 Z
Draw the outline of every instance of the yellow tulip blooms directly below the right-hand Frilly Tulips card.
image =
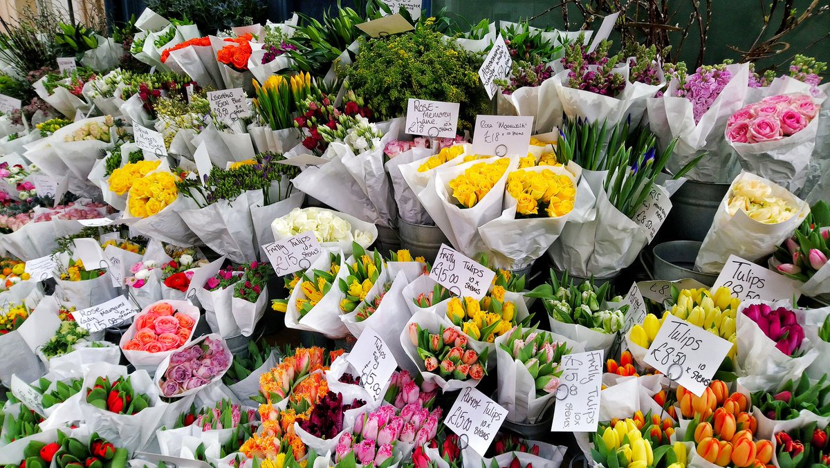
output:
M 493 343 L 515 324 L 515 304 L 505 302 L 505 289 L 493 286 L 481 301 L 471 297 L 453 297 L 447 304 L 447 319 L 477 341 Z

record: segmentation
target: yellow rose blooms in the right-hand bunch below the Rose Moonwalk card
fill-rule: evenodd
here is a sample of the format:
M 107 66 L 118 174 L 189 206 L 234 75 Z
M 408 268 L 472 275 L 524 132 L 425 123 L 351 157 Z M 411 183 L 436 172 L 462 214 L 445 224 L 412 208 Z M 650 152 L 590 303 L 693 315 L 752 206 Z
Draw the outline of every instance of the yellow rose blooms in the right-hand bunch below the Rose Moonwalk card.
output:
M 541 172 L 519 169 L 507 177 L 507 193 L 516 200 L 516 213 L 539 217 L 540 207 L 548 217 L 560 217 L 574 209 L 574 179 L 549 169 Z

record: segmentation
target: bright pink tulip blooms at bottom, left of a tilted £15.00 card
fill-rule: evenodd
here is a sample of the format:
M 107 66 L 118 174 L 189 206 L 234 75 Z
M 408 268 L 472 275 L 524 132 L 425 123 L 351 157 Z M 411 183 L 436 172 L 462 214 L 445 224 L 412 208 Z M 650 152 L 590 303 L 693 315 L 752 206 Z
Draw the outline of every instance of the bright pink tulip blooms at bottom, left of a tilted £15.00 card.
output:
M 334 449 L 334 461 L 339 462 L 354 452 L 360 465 L 382 466 L 392 458 L 398 441 L 422 446 L 434 439 L 441 415 L 441 408 L 430 412 L 421 402 L 408 403 L 400 410 L 383 405 L 364 413 L 354 422 L 352 432 L 340 436 Z

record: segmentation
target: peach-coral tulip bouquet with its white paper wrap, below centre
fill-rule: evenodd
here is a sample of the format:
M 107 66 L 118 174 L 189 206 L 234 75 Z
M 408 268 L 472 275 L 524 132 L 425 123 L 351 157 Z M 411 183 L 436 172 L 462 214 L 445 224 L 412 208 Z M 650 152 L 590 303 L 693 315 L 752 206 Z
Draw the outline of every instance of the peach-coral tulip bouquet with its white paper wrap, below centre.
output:
M 437 314 L 414 314 L 401 332 L 400 342 L 424 381 L 437 384 L 444 392 L 476 387 L 487 373 L 488 349 L 471 342 Z

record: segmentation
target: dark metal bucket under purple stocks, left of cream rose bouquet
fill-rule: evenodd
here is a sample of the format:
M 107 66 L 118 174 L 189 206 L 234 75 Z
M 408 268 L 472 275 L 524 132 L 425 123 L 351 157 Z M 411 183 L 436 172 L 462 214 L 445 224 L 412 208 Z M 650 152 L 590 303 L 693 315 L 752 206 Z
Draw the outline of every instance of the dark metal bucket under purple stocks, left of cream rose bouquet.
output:
M 678 241 L 703 241 L 715 219 L 720 201 L 729 191 L 729 183 L 706 183 L 687 180 L 671 196 L 671 211 L 663 224 L 666 238 Z

